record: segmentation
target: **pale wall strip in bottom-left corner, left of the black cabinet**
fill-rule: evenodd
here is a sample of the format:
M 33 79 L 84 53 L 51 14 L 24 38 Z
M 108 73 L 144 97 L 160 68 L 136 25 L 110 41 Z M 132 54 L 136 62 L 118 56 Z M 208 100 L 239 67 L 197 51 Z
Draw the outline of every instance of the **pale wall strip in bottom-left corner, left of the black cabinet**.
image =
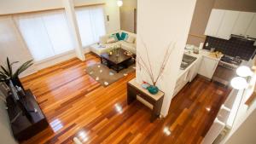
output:
M 0 96 L 3 95 L 0 91 Z M 0 143 L 17 144 L 9 124 L 9 116 L 5 104 L 0 99 Z

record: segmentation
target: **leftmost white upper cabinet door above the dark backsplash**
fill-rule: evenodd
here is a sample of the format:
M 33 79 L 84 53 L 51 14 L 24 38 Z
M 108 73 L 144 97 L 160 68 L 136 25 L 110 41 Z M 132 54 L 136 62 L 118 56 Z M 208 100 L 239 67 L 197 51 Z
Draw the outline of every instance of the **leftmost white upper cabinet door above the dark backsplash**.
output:
M 207 23 L 205 35 L 216 37 L 218 32 L 218 27 L 220 26 L 223 17 L 224 17 L 224 10 L 212 9 L 212 13 Z

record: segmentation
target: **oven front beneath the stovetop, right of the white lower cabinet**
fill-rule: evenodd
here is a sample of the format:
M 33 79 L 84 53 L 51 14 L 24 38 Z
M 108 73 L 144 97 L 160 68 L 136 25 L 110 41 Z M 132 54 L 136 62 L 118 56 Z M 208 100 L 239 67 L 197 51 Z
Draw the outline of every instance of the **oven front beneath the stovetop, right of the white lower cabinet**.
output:
M 225 86 L 230 85 L 231 79 L 236 77 L 236 68 L 237 66 L 224 61 L 219 61 L 213 74 L 212 81 L 224 84 Z

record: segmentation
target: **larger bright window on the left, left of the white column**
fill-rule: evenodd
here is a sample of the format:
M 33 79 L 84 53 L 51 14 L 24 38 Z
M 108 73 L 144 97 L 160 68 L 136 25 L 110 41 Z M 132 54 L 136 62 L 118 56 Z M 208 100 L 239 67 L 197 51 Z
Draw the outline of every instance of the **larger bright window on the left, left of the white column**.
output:
M 15 20 L 35 61 L 45 60 L 74 48 L 63 10 L 18 15 Z

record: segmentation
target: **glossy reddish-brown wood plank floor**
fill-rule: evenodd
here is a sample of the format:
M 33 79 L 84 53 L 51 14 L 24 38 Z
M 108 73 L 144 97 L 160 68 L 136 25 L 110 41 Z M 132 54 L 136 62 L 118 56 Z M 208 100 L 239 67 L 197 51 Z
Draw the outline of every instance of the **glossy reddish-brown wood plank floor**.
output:
M 168 116 L 150 123 L 148 107 L 138 101 L 126 104 L 126 82 L 135 72 L 104 88 L 84 72 L 99 59 L 91 54 L 86 58 L 22 78 L 50 124 L 23 143 L 73 143 L 74 136 L 84 143 L 200 143 L 230 92 L 195 78 L 172 99 Z

